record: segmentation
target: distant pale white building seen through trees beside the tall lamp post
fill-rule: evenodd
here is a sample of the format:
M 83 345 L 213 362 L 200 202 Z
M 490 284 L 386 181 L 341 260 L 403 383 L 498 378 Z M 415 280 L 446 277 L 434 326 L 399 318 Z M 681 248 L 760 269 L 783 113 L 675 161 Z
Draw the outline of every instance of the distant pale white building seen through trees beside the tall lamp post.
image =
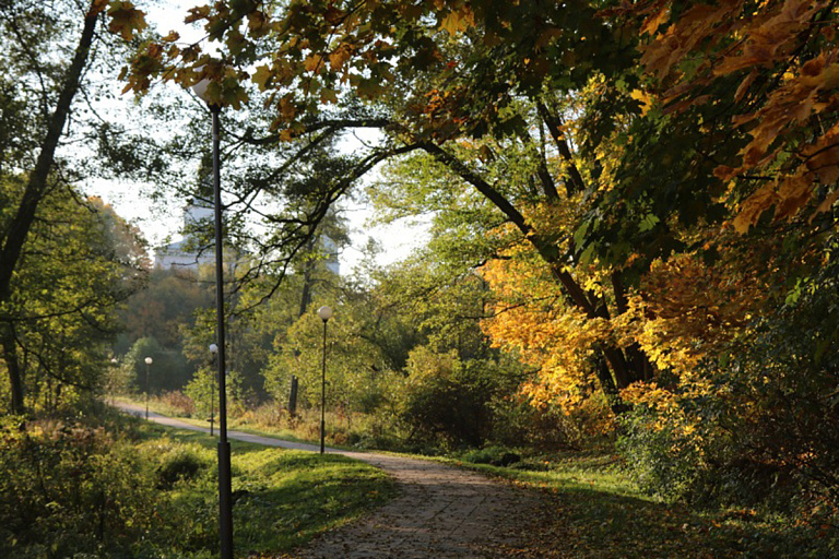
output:
M 184 238 L 155 250 L 155 267 L 198 271 L 200 266 L 213 264 L 215 250 L 212 247 L 201 247 L 197 236 L 190 233 L 208 230 L 212 224 L 212 204 L 202 200 L 193 200 L 189 203 L 184 209 Z

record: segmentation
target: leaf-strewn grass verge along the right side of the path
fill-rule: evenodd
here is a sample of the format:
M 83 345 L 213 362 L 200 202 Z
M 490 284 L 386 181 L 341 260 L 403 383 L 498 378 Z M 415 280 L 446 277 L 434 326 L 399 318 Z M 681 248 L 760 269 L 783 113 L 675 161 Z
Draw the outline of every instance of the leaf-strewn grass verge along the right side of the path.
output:
M 246 430 L 243 427 L 237 429 Z M 274 435 L 267 432 L 267 429 L 247 428 L 247 431 Z M 499 451 L 503 449 L 496 450 Z M 608 453 L 564 452 L 528 456 L 509 467 L 463 460 L 485 453 L 472 451 L 464 453 L 460 460 L 430 460 L 503 477 L 516 485 L 543 492 L 545 506 L 540 514 L 522 519 L 521 532 L 528 540 L 527 549 L 511 550 L 511 555 L 530 558 L 643 559 L 839 557 L 836 526 L 823 525 L 815 520 L 810 523 L 793 521 L 751 509 L 700 511 L 683 504 L 655 501 L 638 490 L 625 465 L 617 456 Z M 399 454 L 429 460 L 428 456 Z M 255 463 L 261 463 L 261 459 Z M 315 496 L 303 491 L 303 486 L 308 487 L 311 483 L 300 481 L 299 485 L 302 490 L 296 493 L 299 500 L 329 502 L 328 492 L 326 496 Z M 317 486 L 317 481 L 314 485 Z M 350 496 L 342 499 L 353 500 Z M 315 507 L 314 510 L 302 506 L 289 516 L 291 520 L 283 521 L 286 523 L 285 533 L 297 532 L 303 542 L 310 537 L 309 534 L 320 530 L 308 525 L 312 515 L 322 519 L 319 522 L 323 526 L 334 525 L 327 524 L 331 522 L 332 510 L 331 504 Z M 256 533 L 264 531 L 264 526 L 255 527 Z M 277 546 L 277 549 L 288 549 L 288 546 L 295 545 L 282 540 L 288 536 L 275 537 L 276 543 L 272 545 Z

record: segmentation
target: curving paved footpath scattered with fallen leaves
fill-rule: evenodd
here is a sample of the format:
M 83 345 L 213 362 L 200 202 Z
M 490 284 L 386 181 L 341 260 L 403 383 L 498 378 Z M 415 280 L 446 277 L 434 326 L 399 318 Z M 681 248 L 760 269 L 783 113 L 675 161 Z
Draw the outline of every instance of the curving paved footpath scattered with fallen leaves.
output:
M 116 404 L 133 415 L 144 408 Z M 158 414 L 162 425 L 210 432 Z M 234 440 L 317 452 L 319 447 L 227 431 Z M 380 467 L 397 483 L 395 499 L 369 515 L 327 532 L 293 557 L 300 559 L 426 559 L 532 557 L 521 536 L 544 506 L 539 493 L 436 462 L 327 449 Z

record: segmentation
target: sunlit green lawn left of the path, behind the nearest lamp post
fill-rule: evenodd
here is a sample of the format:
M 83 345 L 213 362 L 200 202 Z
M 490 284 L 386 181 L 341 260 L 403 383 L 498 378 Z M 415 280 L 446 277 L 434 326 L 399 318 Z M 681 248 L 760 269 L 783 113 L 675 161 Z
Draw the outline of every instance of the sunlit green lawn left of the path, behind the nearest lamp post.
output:
M 177 441 L 202 449 L 214 463 L 217 439 L 209 435 L 153 424 L 140 427 L 146 444 Z M 335 454 L 231 441 L 234 495 L 234 548 L 237 557 L 275 557 L 314 536 L 350 522 L 388 501 L 394 485 L 380 469 Z M 203 557 L 217 535 L 216 477 L 181 484 L 173 490 L 174 506 L 185 525 L 182 549 Z M 199 514 L 190 518 L 186 511 Z

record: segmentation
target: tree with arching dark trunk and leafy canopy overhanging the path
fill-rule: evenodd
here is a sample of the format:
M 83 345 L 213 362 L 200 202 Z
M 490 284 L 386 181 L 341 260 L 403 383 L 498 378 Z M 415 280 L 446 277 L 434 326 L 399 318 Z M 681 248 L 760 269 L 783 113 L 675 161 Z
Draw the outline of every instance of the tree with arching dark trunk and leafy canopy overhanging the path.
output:
M 383 141 L 345 167 L 345 177 L 359 176 L 368 163 L 424 152 L 513 225 L 589 320 L 622 312 L 621 275 L 605 277 L 604 289 L 587 288 L 574 272 L 577 247 L 531 218 L 568 213 L 569 201 L 606 183 L 596 157 L 586 162 L 576 153 L 564 123 L 563 92 L 614 74 L 633 58 L 628 37 L 598 19 L 594 7 L 293 2 L 274 11 L 255 2 L 196 8 L 188 20 L 203 22 L 225 44 L 223 60 L 176 39 L 150 44 L 132 62 L 127 88 L 145 91 L 157 76 L 185 85 L 210 78 L 218 103 L 236 107 L 252 95 L 274 109 L 275 132 L 259 141 L 298 142 L 304 150 L 348 128 L 375 127 Z M 252 76 L 241 69 L 245 60 L 257 68 Z M 263 93 L 246 90 L 247 78 Z M 639 112 L 640 104 L 625 97 L 626 109 Z M 321 104 L 334 109 L 320 111 Z M 493 168 L 505 150 L 528 162 L 515 182 L 499 182 L 500 164 Z M 610 342 L 599 350 L 596 376 L 615 397 L 618 388 L 649 374 L 635 345 Z

